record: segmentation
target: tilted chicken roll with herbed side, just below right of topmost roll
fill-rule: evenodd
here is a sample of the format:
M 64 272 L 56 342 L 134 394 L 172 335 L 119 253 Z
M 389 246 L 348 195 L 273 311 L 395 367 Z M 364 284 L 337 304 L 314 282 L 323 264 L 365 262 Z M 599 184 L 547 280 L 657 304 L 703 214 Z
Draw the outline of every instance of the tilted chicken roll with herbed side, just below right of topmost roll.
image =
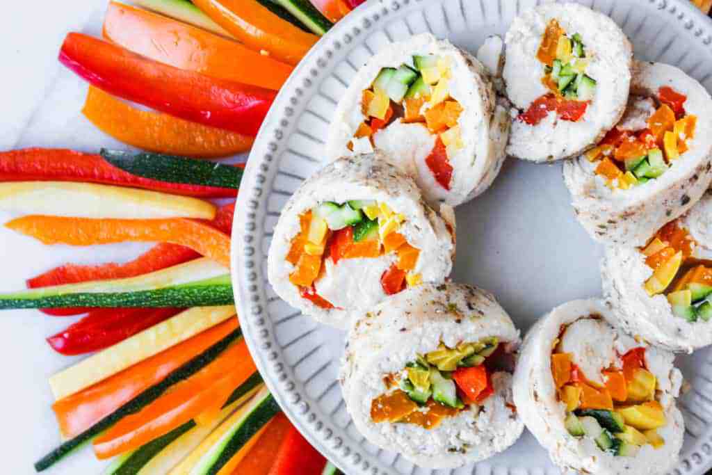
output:
M 642 246 L 690 209 L 712 179 L 712 100 L 674 66 L 634 63 L 621 120 L 564 164 L 580 223 L 596 241 Z

